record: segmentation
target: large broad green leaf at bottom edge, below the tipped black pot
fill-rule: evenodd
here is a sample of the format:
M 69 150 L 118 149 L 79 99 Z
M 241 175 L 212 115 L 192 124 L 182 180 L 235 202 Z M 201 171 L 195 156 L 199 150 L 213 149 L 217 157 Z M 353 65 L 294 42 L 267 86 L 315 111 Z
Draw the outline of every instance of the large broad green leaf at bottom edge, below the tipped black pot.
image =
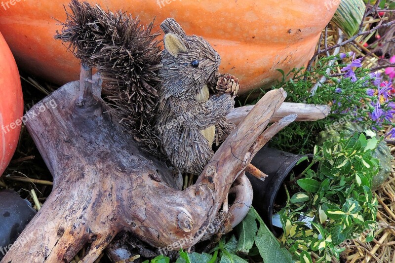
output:
M 292 255 L 280 246 L 280 243 L 262 222 L 259 227 L 258 234 L 255 237 L 255 245 L 259 249 L 259 253 L 266 263 L 292 263 Z

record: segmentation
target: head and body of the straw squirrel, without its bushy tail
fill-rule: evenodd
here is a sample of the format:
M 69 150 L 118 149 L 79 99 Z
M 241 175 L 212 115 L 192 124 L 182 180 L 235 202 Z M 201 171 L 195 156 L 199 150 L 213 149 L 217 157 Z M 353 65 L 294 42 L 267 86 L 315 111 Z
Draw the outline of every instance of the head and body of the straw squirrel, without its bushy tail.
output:
M 212 46 L 187 36 L 172 18 L 160 27 L 165 33 L 157 121 L 161 149 L 180 172 L 199 174 L 214 154 L 214 140 L 233 130 L 225 116 L 235 102 L 230 94 L 210 96 L 221 63 Z

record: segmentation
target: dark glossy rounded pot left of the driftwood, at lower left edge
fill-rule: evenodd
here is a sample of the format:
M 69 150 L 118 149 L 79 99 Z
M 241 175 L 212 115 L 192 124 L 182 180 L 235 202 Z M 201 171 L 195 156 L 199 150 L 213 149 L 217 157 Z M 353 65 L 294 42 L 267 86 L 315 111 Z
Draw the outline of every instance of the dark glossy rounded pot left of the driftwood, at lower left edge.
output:
M 0 260 L 35 215 L 28 200 L 14 191 L 0 191 Z

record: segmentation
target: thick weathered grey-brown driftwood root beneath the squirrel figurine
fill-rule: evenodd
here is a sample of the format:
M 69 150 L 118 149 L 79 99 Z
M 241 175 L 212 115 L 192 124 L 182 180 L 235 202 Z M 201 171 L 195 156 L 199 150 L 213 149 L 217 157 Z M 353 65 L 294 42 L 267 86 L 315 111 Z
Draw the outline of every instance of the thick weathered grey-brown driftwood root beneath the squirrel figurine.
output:
M 216 218 L 256 152 L 296 118 L 286 117 L 264 131 L 286 97 L 282 89 L 268 92 L 217 150 L 197 183 L 181 191 L 175 183 L 178 174 L 140 150 L 114 124 L 97 85 L 86 84 L 92 82 L 88 75 L 81 78 L 82 90 L 78 81 L 71 82 L 45 98 L 42 103 L 53 100 L 57 107 L 26 125 L 54 186 L 18 239 L 28 236 L 28 242 L 13 246 L 4 263 L 69 262 L 86 245 L 90 249 L 81 262 L 92 263 L 122 230 L 154 247 L 189 248 Z

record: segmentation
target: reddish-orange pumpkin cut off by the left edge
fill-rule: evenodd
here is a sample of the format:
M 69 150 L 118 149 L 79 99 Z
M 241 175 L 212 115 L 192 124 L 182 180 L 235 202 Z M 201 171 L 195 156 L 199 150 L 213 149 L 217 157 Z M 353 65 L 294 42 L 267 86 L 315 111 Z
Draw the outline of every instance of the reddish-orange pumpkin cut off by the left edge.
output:
M 15 152 L 22 114 L 23 98 L 18 68 L 0 33 L 0 176 Z

